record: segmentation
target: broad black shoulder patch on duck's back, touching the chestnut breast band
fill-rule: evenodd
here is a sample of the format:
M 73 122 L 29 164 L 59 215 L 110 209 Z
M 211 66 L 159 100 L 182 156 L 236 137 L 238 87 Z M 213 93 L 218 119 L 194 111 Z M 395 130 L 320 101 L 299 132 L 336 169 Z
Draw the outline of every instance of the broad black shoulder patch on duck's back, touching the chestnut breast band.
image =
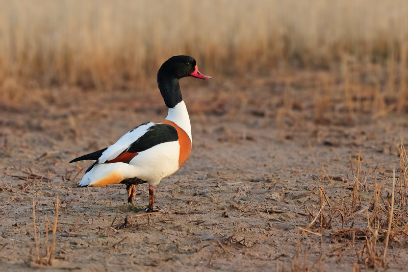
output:
M 148 128 L 147 132 L 134 141 L 126 152 L 142 152 L 160 143 L 172 142 L 178 139 L 179 134 L 177 134 L 177 130 L 173 126 L 167 123 L 158 123 Z

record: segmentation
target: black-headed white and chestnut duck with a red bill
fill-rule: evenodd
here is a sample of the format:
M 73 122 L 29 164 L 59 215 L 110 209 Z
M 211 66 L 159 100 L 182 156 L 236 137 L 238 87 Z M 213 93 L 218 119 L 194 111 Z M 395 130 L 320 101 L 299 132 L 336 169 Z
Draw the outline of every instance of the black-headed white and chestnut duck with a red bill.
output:
M 174 174 L 191 153 L 190 118 L 179 85 L 184 77 L 211 79 L 199 72 L 193 57 L 173 56 L 165 61 L 157 73 L 157 83 L 168 108 L 167 117 L 143 123 L 114 144 L 71 160 L 69 163 L 93 160 L 78 187 L 125 184 L 127 203 L 132 204 L 135 186 L 148 183 L 145 211 L 155 211 L 155 186 Z

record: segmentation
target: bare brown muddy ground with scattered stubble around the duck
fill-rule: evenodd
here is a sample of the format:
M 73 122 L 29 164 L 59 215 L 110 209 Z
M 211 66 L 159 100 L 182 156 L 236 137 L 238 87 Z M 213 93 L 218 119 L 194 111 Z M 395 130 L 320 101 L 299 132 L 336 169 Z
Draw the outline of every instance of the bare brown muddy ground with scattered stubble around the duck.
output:
M 136 205 L 125 205 L 124 185 L 77 188 L 89 163 L 68 162 L 163 118 L 154 85 L 143 93 L 33 88 L 0 102 L 0 270 L 37 266 L 33 200 L 42 255 L 57 196 L 54 260 L 42 269 L 406 269 L 406 194 L 397 193 L 404 182 L 395 191 L 385 262 L 382 255 L 408 116 L 359 112 L 350 120 L 339 102 L 319 123 L 313 84 L 286 93 L 275 80 L 242 81 L 182 80 L 192 153 L 157 186 L 156 206 L 168 213 L 140 217 L 146 185 L 137 187 Z M 367 223 L 374 170 L 382 183 L 376 232 Z M 354 176 L 363 183 L 356 188 Z M 119 229 L 126 216 L 131 222 Z

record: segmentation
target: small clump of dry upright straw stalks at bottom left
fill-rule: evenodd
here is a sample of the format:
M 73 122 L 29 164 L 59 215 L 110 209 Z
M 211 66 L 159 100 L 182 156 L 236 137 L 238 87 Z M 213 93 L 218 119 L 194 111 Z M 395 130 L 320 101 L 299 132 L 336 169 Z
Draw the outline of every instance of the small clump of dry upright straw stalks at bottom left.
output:
M 50 245 L 48 245 L 48 230 L 51 226 L 50 222 L 47 220 L 45 224 L 45 250 L 40 250 L 40 235 L 37 233 L 37 226 L 36 226 L 36 219 L 35 219 L 35 201 L 33 200 L 33 222 L 34 222 L 34 241 L 35 241 L 35 248 L 36 254 L 33 254 L 33 250 L 30 253 L 30 261 L 29 263 L 35 267 L 42 267 L 47 265 L 53 264 L 53 256 L 55 251 L 55 243 L 56 243 L 56 233 L 57 233 L 57 222 L 58 222 L 58 206 L 59 206 L 59 198 L 57 196 L 57 201 L 55 204 L 55 222 L 53 228 L 53 241 Z

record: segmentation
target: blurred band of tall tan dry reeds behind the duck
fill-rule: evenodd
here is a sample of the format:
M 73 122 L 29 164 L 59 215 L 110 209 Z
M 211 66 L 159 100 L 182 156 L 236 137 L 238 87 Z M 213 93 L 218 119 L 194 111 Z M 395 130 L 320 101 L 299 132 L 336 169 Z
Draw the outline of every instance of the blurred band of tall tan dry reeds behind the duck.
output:
M 136 88 L 186 54 L 231 77 L 328 70 L 350 85 L 353 67 L 375 70 L 405 100 L 407 14 L 404 0 L 0 0 L 0 88 Z

